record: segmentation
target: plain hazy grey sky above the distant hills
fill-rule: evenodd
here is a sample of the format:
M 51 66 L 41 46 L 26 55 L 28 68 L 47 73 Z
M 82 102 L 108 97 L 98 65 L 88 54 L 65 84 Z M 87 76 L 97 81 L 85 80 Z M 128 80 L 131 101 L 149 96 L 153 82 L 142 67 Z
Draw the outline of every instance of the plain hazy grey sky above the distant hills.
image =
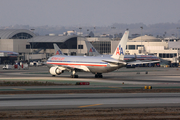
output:
M 177 23 L 180 0 L 0 0 L 0 26 Z

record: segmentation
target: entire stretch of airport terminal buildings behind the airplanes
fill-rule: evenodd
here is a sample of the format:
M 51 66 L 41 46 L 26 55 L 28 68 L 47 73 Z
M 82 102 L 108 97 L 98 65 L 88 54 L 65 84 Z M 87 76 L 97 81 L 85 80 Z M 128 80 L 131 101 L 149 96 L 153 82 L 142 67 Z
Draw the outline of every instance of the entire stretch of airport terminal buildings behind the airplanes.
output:
M 90 41 L 101 54 L 112 54 L 119 42 L 107 37 L 37 36 L 31 30 L 3 29 L 0 30 L 0 51 L 17 52 L 18 60 L 46 60 L 54 55 L 53 43 L 67 55 L 88 54 L 85 40 Z M 129 40 L 126 54 L 151 54 L 171 63 L 179 63 L 179 46 L 180 42 L 177 40 L 166 41 L 145 35 Z

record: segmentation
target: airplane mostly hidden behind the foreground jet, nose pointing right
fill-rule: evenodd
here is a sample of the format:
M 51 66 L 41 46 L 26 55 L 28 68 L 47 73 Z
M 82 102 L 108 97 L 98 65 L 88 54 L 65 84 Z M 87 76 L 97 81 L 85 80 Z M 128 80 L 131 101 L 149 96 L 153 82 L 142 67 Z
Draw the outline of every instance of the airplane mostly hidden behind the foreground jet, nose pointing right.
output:
M 101 55 L 89 41 L 85 41 L 87 46 L 87 55 L 89 56 L 111 56 L 111 55 Z M 159 63 L 160 59 L 154 55 L 124 55 L 124 61 L 127 65 L 136 64 L 147 64 L 147 63 Z M 134 62 L 133 62 L 134 61 Z

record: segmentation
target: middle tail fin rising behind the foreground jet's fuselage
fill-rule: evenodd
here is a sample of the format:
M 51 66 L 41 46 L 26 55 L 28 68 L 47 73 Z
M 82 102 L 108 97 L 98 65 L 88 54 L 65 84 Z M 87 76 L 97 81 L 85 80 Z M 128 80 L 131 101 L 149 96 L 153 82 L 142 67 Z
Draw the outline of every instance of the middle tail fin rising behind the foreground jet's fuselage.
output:
M 92 46 L 92 44 L 89 41 L 85 41 L 87 46 L 87 52 L 89 56 L 97 56 L 100 55 L 98 51 Z

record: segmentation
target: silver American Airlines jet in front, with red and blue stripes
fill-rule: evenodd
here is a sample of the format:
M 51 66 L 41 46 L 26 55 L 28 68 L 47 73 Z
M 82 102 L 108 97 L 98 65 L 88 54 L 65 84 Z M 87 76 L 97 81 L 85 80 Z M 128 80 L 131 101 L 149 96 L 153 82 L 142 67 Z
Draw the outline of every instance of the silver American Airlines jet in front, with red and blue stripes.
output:
M 49 72 L 52 76 L 56 76 L 64 71 L 69 71 L 72 78 L 78 78 L 76 72 L 91 72 L 95 74 L 95 78 L 102 78 L 102 73 L 112 72 L 126 66 L 124 53 L 128 35 L 129 31 L 127 30 L 112 56 L 66 56 L 62 52 L 61 55 L 54 55 L 46 62 L 50 67 Z

